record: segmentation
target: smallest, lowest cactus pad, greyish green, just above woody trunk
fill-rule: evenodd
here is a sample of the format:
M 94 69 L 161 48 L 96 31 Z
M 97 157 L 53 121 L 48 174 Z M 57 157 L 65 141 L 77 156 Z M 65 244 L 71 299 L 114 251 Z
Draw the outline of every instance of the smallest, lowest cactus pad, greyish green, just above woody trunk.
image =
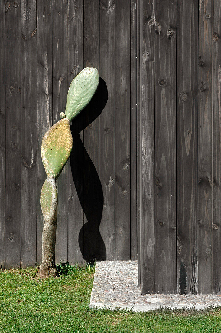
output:
M 56 220 L 57 213 L 57 187 L 54 178 L 47 178 L 41 190 L 41 208 L 45 221 Z

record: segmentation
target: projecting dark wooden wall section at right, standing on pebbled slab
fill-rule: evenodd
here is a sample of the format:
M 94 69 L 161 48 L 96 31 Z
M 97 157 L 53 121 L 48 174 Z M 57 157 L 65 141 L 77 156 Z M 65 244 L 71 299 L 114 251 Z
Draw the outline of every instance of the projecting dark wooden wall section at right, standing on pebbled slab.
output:
M 143 293 L 221 293 L 221 2 L 141 1 Z

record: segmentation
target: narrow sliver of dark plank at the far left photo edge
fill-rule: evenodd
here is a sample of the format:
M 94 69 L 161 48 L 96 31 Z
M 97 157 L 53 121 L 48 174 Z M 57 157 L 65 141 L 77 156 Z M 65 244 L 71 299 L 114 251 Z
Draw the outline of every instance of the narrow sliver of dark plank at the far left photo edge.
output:
M 5 6 L 0 4 L 0 268 L 5 267 Z

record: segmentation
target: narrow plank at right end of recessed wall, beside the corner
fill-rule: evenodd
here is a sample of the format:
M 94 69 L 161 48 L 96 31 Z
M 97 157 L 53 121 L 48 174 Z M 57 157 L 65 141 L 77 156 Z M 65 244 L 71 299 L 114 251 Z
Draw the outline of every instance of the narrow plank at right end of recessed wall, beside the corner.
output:
M 137 260 L 137 78 L 136 78 L 136 0 L 131 0 L 131 153 L 130 153 L 130 177 L 131 177 L 131 253 L 130 259 Z

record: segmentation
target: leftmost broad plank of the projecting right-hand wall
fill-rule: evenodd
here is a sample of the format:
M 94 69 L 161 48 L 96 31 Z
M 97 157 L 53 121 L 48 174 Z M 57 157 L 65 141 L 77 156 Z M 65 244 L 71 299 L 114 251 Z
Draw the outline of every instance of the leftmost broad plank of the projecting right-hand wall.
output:
M 142 1 L 141 291 L 155 291 L 155 1 Z

